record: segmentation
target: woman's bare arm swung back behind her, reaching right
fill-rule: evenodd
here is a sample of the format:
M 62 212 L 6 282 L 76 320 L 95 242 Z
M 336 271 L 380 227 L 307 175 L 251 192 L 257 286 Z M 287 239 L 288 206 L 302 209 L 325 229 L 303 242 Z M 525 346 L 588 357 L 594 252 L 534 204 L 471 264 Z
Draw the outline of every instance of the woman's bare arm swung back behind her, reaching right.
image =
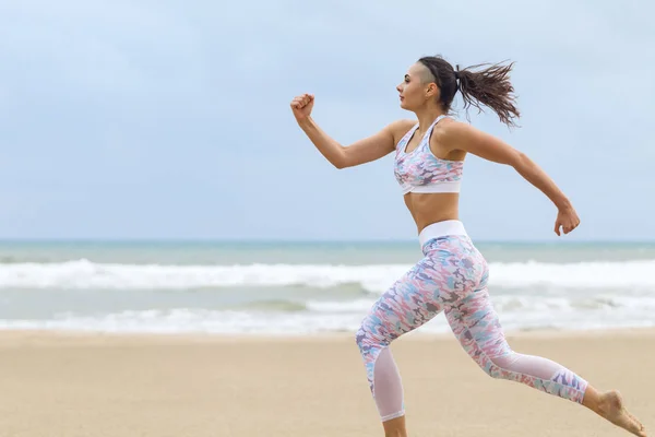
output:
M 493 163 L 512 166 L 525 180 L 538 188 L 558 209 L 555 232 L 564 234 L 580 224 L 580 218 L 569 199 L 555 181 L 525 153 L 517 151 L 502 140 L 463 122 L 451 122 L 442 130 L 440 142 L 449 150 L 463 150 Z

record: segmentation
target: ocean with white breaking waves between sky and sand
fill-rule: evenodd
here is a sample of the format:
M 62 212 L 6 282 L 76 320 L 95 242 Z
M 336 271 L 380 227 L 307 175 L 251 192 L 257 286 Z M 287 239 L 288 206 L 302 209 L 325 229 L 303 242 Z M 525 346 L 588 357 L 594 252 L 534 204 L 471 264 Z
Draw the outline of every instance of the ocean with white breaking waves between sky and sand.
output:
M 655 243 L 477 243 L 507 332 L 655 326 Z M 0 329 L 355 332 L 418 243 L 0 243 Z M 417 332 L 446 332 L 443 315 Z

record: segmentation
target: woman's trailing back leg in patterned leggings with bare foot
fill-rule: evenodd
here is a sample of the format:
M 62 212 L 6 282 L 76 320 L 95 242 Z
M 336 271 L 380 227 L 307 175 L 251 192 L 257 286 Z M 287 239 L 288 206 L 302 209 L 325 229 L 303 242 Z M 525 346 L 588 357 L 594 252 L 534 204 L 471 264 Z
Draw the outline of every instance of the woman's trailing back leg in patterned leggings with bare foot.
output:
M 445 317 L 462 347 L 485 373 L 580 403 L 634 435 L 646 436 L 642 424 L 623 408 L 618 392 L 598 393 L 561 364 L 512 351 L 484 285 L 449 307 Z

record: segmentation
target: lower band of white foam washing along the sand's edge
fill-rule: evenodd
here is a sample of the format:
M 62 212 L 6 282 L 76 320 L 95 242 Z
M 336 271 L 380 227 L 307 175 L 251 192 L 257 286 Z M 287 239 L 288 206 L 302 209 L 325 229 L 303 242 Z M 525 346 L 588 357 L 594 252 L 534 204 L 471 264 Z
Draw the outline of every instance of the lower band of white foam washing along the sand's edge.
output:
M 502 305 L 500 305 L 501 307 Z M 326 309 L 325 307 L 323 309 Z M 629 327 L 655 327 L 655 307 L 565 311 L 499 309 L 505 332 L 534 329 L 592 330 Z M 72 330 L 110 333 L 214 333 L 214 334 L 285 334 L 303 335 L 321 332 L 355 333 L 366 310 L 348 312 L 305 311 L 222 311 L 178 308 L 172 310 L 123 311 L 84 316 L 61 314 L 47 320 L 0 320 L 2 330 Z M 448 332 L 443 315 L 422 326 L 417 332 Z

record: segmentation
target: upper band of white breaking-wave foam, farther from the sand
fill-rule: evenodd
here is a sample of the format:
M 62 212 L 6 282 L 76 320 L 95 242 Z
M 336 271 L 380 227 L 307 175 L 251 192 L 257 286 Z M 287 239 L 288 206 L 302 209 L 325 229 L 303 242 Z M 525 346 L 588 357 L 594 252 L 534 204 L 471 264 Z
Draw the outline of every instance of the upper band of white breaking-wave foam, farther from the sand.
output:
M 357 284 L 371 293 L 388 290 L 412 265 L 109 264 L 87 260 L 0 264 L 0 288 L 179 290 L 198 287 L 334 287 Z M 621 262 L 491 263 L 489 285 L 504 288 L 655 290 L 655 260 Z

